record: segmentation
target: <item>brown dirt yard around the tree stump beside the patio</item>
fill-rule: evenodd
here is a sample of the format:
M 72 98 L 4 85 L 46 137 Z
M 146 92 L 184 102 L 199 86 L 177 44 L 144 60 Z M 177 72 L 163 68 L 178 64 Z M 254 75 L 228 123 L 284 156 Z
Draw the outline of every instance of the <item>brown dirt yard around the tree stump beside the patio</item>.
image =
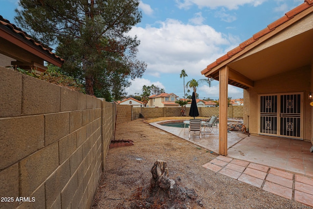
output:
M 167 162 L 170 179 L 196 191 L 201 204 L 186 202 L 189 209 L 311 209 L 202 167 L 217 155 L 143 119 L 118 124 L 115 140 L 122 139 L 134 145 L 109 150 L 92 209 L 130 209 L 134 193 L 150 184 L 156 160 Z

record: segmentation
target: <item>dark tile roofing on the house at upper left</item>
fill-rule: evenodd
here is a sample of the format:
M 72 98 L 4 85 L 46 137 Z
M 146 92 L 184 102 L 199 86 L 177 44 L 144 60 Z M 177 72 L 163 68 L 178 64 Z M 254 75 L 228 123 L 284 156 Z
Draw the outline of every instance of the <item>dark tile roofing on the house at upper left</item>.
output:
M 32 39 L 25 31 L 22 31 L 21 28 L 17 27 L 15 24 L 10 23 L 8 20 L 4 19 L 0 15 L 0 25 L 4 25 L 12 35 L 19 35 L 28 45 L 33 45 L 38 47 L 42 53 L 45 53 L 48 56 L 52 56 L 54 59 L 58 60 L 60 63 L 64 62 L 64 59 L 57 56 L 55 53 L 52 52 L 52 48 L 47 48 L 42 43 L 36 42 Z

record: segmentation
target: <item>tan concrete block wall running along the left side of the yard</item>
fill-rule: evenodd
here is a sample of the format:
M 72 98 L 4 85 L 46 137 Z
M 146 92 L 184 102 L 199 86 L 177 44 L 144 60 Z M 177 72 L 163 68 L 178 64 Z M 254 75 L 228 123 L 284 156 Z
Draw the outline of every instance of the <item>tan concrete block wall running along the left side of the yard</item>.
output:
M 0 209 L 90 208 L 112 103 L 2 67 L 0 90 Z

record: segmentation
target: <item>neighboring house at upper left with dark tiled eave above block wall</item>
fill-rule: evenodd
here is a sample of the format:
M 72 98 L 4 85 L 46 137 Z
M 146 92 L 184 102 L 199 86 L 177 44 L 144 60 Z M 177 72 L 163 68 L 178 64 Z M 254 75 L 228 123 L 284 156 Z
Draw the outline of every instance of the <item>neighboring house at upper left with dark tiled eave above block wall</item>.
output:
M 45 71 L 44 62 L 61 67 L 64 60 L 52 49 L 36 42 L 26 32 L 0 16 L 0 66 Z

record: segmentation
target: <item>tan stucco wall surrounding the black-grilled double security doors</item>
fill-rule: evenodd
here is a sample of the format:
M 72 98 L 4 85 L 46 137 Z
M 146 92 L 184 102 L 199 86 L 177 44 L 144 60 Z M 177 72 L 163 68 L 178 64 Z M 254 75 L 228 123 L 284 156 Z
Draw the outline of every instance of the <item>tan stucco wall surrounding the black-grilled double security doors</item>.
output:
M 303 93 L 303 139 L 312 139 L 312 106 L 308 94 L 311 90 L 311 66 L 291 70 L 269 78 L 255 81 L 254 87 L 244 91 L 244 121 L 251 134 L 258 134 L 259 127 L 259 94 Z M 292 85 L 291 85 L 292 84 Z M 249 118 L 248 118 L 249 116 Z

